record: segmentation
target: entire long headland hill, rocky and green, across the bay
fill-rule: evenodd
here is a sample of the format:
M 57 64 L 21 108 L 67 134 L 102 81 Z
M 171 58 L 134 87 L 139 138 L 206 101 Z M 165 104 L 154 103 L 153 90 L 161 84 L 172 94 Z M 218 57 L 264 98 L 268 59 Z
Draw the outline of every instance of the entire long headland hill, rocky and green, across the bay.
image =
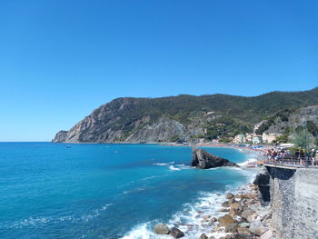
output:
M 308 92 L 242 97 L 178 95 L 162 98 L 118 98 L 95 109 L 55 143 L 141 143 L 208 139 L 251 131 L 265 116 L 283 109 L 318 105 L 318 88 Z

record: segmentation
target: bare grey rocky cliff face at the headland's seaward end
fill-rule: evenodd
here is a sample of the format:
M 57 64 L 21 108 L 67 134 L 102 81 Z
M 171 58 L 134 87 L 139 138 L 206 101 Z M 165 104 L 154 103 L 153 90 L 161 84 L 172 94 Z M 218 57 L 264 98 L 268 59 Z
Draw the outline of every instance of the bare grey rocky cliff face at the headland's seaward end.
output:
M 191 135 L 203 134 L 200 125 L 186 125 L 152 112 L 140 114 L 144 102 L 121 98 L 102 105 L 69 131 L 55 135 L 55 143 L 113 143 L 160 142 L 173 137 L 187 140 Z

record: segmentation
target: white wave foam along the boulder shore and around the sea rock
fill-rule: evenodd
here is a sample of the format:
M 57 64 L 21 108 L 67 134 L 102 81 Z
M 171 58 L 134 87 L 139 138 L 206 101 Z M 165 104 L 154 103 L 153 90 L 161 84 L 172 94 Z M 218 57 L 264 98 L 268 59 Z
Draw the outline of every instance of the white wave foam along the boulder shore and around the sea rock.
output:
M 243 151 L 243 150 L 240 150 Z M 250 155 L 251 157 L 252 155 Z M 242 165 L 250 162 L 255 162 L 255 158 L 249 158 L 246 162 L 241 163 Z M 190 169 L 191 166 L 184 164 L 173 165 L 174 162 L 168 164 L 158 164 L 169 167 L 171 170 Z M 241 165 L 240 164 L 240 165 Z M 250 170 L 244 170 L 238 167 L 224 167 L 223 170 L 235 170 L 240 174 L 245 174 L 249 178 L 249 182 L 253 180 L 254 172 Z M 220 168 L 211 168 L 209 170 L 220 170 Z M 243 185 L 238 187 L 239 184 L 226 185 L 225 192 L 207 193 L 201 192 L 197 203 L 195 204 L 184 204 L 183 209 L 172 216 L 168 222 L 169 227 L 175 226 L 184 232 L 184 239 L 199 238 L 201 234 L 208 236 L 214 236 L 215 238 L 224 237 L 226 234 L 213 233 L 214 224 L 209 224 L 209 221 L 213 217 L 219 217 L 222 214 L 220 209 L 221 204 L 225 201 L 224 194 L 232 192 L 237 194 L 240 192 L 243 194 L 247 188 Z M 209 218 L 206 218 L 209 217 Z M 207 219 L 207 220 L 206 220 Z M 144 224 L 136 225 L 130 232 L 124 235 L 122 239 L 164 239 L 170 238 L 171 236 L 154 234 L 153 226 L 159 223 L 157 221 L 147 222 Z

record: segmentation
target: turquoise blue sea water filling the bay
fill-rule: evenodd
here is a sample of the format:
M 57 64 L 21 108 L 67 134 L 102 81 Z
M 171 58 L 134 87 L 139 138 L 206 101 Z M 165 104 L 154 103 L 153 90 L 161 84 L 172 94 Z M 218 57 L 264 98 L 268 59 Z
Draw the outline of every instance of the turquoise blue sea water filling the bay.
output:
M 155 144 L 1 143 L 0 238 L 156 238 L 155 223 L 194 223 L 198 208 L 216 213 L 227 190 L 251 180 L 230 167 L 194 169 L 191 156 Z

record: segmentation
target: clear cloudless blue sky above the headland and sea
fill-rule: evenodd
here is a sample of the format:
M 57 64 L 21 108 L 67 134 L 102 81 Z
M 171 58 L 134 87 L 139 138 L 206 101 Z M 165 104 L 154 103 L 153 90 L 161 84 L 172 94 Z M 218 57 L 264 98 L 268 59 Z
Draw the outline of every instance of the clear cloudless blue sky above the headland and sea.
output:
M 48 141 L 121 96 L 318 86 L 318 1 L 0 2 L 0 141 Z

